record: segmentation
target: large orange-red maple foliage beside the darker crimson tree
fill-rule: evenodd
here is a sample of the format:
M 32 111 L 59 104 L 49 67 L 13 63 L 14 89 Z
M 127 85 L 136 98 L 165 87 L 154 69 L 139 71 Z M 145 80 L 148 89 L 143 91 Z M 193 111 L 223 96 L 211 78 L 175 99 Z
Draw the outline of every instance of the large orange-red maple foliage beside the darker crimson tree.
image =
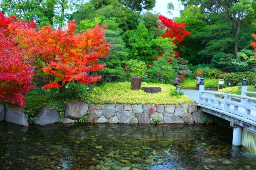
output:
M 105 64 L 97 62 L 109 54 L 110 44 L 104 40 L 105 34 L 99 25 L 84 33 L 74 34 L 76 26 L 73 21 L 68 23 L 66 29 L 54 30 L 44 26 L 37 31 L 13 25 L 12 31 L 18 35 L 21 47 L 27 49 L 27 59 L 51 77 L 43 88 L 58 88 L 62 83 L 73 80 L 82 84 L 94 84 L 100 80 L 101 76 L 89 73 L 104 68 Z

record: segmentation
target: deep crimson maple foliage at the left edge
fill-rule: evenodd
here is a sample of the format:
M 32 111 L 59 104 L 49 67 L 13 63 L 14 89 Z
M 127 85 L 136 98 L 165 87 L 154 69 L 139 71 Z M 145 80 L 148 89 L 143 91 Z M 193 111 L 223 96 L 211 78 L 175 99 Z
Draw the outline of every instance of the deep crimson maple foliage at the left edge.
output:
M 0 102 L 24 107 L 24 93 L 31 88 L 33 68 L 24 61 L 8 25 L 16 23 L 0 12 Z

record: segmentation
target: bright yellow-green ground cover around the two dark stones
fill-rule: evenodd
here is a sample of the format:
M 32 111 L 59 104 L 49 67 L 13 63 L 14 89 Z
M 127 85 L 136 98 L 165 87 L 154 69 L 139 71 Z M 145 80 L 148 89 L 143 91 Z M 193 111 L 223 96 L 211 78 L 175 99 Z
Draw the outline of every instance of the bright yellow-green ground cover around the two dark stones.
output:
M 95 87 L 83 99 L 89 104 L 184 104 L 193 103 L 188 96 L 170 96 L 170 84 L 149 84 L 142 82 L 142 86 L 161 87 L 162 92 L 156 94 L 146 93 L 143 90 L 131 90 L 130 82 L 106 83 Z

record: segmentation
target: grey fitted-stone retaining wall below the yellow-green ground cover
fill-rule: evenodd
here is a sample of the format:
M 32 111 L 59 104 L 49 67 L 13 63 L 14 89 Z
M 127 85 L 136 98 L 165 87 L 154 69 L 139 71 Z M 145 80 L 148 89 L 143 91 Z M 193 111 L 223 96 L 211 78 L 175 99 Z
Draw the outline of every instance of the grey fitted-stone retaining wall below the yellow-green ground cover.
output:
M 86 116 L 90 123 L 204 123 L 204 114 L 197 112 L 196 104 L 84 104 L 66 103 L 65 119 L 79 120 Z M 67 120 L 68 120 L 67 119 Z M 66 121 L 66 120 L 64 120 Z

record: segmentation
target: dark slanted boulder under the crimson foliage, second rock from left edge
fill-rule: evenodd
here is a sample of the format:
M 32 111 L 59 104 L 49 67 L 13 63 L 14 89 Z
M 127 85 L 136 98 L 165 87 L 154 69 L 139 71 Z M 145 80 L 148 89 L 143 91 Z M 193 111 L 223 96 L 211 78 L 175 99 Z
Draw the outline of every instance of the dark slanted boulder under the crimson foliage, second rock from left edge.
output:
M 4 107 L 5 121 L 21 126 L 28 126 L 28 119 L 21 108 Z

